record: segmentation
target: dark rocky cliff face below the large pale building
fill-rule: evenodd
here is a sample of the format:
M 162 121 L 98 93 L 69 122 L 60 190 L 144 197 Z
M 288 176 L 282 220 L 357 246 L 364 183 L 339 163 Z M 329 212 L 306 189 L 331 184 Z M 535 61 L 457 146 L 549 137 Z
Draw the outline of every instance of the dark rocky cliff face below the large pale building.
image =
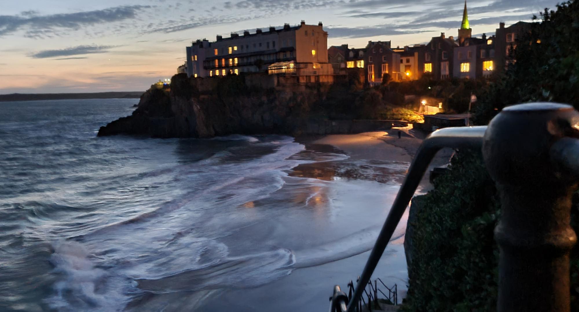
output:
M 243 77 L 188 79 L 175 75 L 169 89 L 146 91 L 131 116 L 101 127 L 98 136 L 127 134 L 155 138 L 210 138 L 232 133 L 294 135 L 309 107 L 325 96 L 320 88 L 301 92 L 248 87 Z

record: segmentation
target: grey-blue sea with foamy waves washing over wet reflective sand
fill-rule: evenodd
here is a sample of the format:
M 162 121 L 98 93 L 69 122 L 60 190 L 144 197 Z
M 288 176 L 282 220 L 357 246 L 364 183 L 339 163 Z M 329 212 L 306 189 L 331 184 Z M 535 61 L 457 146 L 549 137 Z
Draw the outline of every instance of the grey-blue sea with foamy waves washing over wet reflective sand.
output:
M 320 311 L 356 281 L 408 163 L 97 137 L 137 102 L 0 103 L 0 311 Z M 399 298 L 405 218 L 374 274 Z

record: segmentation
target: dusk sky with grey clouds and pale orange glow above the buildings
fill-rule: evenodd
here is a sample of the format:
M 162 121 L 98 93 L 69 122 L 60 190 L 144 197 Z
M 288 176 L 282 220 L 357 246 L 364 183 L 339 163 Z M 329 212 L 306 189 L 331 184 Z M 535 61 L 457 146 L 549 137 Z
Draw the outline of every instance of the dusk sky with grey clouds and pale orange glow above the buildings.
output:
M 530 21 L 554 0 L 468 0 L 473 36 Z M 328 46 L 456 36 L 464 0 L 0 0 L 0 94 L 144 91 L 196 39 L 323 22 Z

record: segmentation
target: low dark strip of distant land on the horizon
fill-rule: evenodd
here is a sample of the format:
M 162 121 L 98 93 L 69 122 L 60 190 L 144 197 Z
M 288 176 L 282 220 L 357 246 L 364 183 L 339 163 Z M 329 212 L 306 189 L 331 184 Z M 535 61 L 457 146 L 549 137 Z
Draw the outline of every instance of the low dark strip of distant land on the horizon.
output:
M 142 91 L 94 92 L 94 93 L 33 93 L 0 94 L 0 102 L 41 101 L 57 99 L 138 99 Z

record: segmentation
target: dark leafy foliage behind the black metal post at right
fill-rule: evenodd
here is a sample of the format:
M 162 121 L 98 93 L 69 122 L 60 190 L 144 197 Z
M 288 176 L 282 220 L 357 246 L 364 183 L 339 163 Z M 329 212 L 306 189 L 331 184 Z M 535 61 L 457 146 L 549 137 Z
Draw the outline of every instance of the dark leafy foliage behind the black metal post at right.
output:
M 579 3 L 545 10 L 518 38 L 506 72 L 479 96 L 474 121 L 488 124 L 504 106 L 530 101 L 579 108 Z M 537 43 L 540 40 L 540 43 Z M 435 188 L 413 199 L 412 265 L 405 311 L 494 311 L 498 250 L 493 229 L 500 203 L 479 151 L 461 150 Z M 577 194 L 576 194 L 577 195 Z M 579 233 L 579 196 L 571 225 Z M 579 311 L 579 248 L 571 254 L 571 310 Z

